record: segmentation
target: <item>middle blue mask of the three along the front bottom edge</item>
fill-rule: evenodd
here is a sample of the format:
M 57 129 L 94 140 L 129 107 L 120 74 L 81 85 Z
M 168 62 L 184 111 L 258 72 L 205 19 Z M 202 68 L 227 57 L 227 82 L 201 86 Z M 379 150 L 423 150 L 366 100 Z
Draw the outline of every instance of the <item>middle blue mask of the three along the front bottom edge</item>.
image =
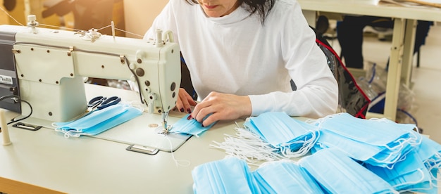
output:
M 292 161 L 266 162 L 252 174 L 262 193 L 323 193 L 306 170 Z

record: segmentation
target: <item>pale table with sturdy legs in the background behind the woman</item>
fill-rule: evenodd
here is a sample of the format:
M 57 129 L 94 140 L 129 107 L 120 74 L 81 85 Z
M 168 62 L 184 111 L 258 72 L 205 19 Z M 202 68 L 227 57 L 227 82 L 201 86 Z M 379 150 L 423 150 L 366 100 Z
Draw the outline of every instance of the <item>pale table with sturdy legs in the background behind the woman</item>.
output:
M 412 56 L 414 53 L 416 20 L 441 21 L 440 8 L 404 7 L 378 0 L 298 0 L 311 26 L 315 26 L 316 12 L 371 15 L 395 18 L 387 72 L 385 112 L 368 117 L 387 117 L 395 120 L 399 84 L 410 87 Z

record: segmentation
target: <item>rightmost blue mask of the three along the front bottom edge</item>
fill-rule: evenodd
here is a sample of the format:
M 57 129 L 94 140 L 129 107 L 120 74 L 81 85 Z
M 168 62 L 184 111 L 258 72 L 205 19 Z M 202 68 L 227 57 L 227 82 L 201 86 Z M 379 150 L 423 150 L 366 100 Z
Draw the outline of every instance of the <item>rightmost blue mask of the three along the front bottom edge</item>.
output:
M 340 150 L 318 150 L 299 160 L 328 193 L 397 193 L 389 183 Z

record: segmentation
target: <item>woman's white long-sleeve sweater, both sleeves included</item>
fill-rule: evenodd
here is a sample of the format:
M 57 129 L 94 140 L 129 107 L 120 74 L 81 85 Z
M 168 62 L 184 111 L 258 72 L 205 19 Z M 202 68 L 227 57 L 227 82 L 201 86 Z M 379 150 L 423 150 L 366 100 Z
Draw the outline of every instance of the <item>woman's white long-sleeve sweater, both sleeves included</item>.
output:
M 337 82 L 295 0 L 278 0 L 263 25 L 242 7 L 209 18 L 199 5 L 170 0 L 144 39 L 156 29 L 173 32 L 201 99 L 211 91 L 248 95 L 252 115 L 316 118 L 337 109 Z

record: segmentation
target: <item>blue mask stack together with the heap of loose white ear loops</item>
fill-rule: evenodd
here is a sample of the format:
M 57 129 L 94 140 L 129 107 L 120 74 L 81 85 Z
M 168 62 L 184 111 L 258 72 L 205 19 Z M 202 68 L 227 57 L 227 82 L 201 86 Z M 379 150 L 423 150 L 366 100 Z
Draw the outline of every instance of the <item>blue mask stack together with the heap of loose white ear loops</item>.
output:
M 213 141 L 216 145 L 211 147 L 250 163 L 306 155 L 319 135 L 318 127 L 292 119 L 285 112 L 249 117 L 244 128 L 237 127 L 236 131 L 236 136 L 227 135 L 223 143 Z

